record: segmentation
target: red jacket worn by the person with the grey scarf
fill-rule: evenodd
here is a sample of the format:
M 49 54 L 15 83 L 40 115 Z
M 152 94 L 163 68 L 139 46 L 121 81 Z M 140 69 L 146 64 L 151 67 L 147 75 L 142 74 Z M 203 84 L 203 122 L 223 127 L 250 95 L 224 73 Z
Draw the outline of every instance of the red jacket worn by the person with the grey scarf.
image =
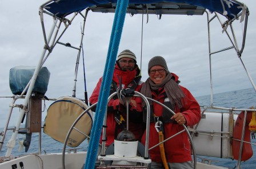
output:
M 175 81 L 178 81 L 178 76 L 172 73 L 172 75 L 175 77 Z M 184 88 L 183 86 L 180 86 L 183 93 L 185 94 L 185 100 L 183 100 L 183 107 L 179 109 L 177 106 L 175 106 L 175 113 L 182 113 L 183 116 L 186 118 L 186 126 L 193 126 L 196 123 L 198 123 L 201 119 L 201 110 L 198 102 L 195 100 L 195 98 L 192 96 L 192 94 Z M 154 100 L 157 100 L 161 103 L 164 102 L 165 98 L 167 97 L 165 94 L 165 90 L 163 88 L 160 88 L 158 90 L 158 94 L 154 91 L 151 91 L 152 98 Z M 155 102 L 153 102 L 153 112 L 155 116 L 162 116 L 163 107 Z M 164 123 L 164 137 L 169 138 L 172 135 L 178 133 L 179 131 L 184 130 L 182 125 L 178 125 L 177 123 Z M 145 143 L 146 132 L 143 134 L 142 137 L 142 143 Z M 154 145 L 157 145 L 159 143 L 159 135 L 157 130 L 155 129 L 155 122 L 150 122 L 150 134 L 149 134 L 149 148 L 153 147 Z M 187 136 L 186 131 L 183 133 L 169 139 L 169 141 L 166 141 L 164 143 L 165 147 L 165 153 L 167 162 L 171 163 L 181 163 L 181 162 L 187 162 L 191 160 L 191 147 L 189 142 L 189 137 Z M 154 149 L 151 149 L 149 151 L 150 158 L 153 162 L 162 162 L 161 159 L 161 152 L 159 149 L 159 146 L 155 147 Z

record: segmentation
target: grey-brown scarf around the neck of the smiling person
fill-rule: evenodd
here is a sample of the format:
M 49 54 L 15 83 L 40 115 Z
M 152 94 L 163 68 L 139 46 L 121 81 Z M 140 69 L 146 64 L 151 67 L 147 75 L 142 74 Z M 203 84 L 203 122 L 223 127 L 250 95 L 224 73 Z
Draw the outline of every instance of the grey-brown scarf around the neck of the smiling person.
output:
M 159 88 L 165 89 L 166 95 L 169 98 L 172 105 L 177 105 L 178 108 L 182 108 L 182 100 L 185 98 L 185 94 L 179 87 L 179 85 L 171 79 L 173 75 L 171 73 L 167 73 L 165 79 L 162 81 L 161 84 L 154 84 L 153 81 L 149 78 L 145 81 L 142 85 L 141 93 L 149 98 L 151 96 L 151 90 L 158 90 Z M 152 101 L 149 100 L 150 105 L 152 105 Z M 142 107 L 146 106 L 145 102 L 142 102 Z

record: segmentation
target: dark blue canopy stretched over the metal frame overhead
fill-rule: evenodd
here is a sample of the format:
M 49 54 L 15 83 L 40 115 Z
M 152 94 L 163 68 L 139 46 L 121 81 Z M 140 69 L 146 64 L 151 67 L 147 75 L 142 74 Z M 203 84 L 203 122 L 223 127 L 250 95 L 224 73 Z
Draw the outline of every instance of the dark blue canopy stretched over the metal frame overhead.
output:
M 79 12 L 87 7 L 106 5 L 111 3 L 117 3 L 117 0 L 106 1 L 106 0 L 54 0 L 53 2 L 47 4 L 44 8 L 50 13 L 54 14 L 58 18 L 66 17 L 74 12 Z M 208 9 L 211 12 L 217 12 L 219 14 L 225 15 L 228 19 L 234 19 L 237 17 L 239 13 L 241 13 L 243 9 L 243 3 L 239 3 L 238 1 L 231 0 L 170 0 L 170 1 L 155 1 L 155 0 L 130 0 L 129 7 L 133 6 L 136 9 L 136 6 L 142 4 L 162 4 L 162 6 L 155 6 L 155 10 L 160 9 L 161 7 L 166 10 L 175 10 L 179 9 L 181 5 L 192 5 L 199 6 L 205 9 Z M 178 4 L 173 7 L 166 7 L 166 3 L 174 3 Z M 113 5 L 115 7 L 115 5 Z M 106 11 L 105 11 L 106 12 Z M 157 14 L 157 13 L 156 13 Z M 189 14 L 189 15 L 193 15 Z

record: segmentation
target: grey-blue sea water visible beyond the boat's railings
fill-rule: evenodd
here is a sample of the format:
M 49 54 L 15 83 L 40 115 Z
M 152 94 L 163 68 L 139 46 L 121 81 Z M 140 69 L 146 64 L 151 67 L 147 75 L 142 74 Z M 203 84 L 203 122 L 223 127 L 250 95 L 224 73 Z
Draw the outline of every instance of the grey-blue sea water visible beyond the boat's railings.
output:
M 196 97 L 197 101 L 201 106 L 209 106 L 210 105 L 210 96 L 201 96 Z M 223 106 L 229 108 L 250 108 L 251 106 L 256 106 L 256 92 L 253 88 L 250 89 L 242 89 L 242 90 L 235 90 L 232 92 L 225 92 L 225 93 L 218 93 L 214 94 L 213 97 L 214 106 Z M 0 132 L 3 129 L 0 129 Z M 6 152 L 6 142 L 10 139 L 12 131 L 8 131 L 5 144 L 0 151 L 0 156 L 4 156 Z M 22 134 L 18 134 L 20 140 L 22 140 L 25 136 Z M 33 133 L 32 141 L 30 148 L 27 152 L 23 149 L 21 152 L 18 152 L 18 142 L 15 144 L 15 148 L 12 151 L 13 156 L 17 156 L 19 154 L 30 154 L 38 152 L 38 133 Z M 42 154 L 50 153 L 50 152 L 62 152 L 63 150 L 63 143 L 55 141 L 48 135 L 44 134 L 42 131 Z M 256 144 L 256 139 L 251 139 L 251 142 Z M 87 150 L 87 139 L 81 143 L 78 147 L 81 148 L 78 151 L 85 151 Z M 77 148 L 78 148 L 77 147 Z M 256 146 L 253 145 L 253 151 L 256 152 Z M 66 149 L 72 149 L 71 147 L 66 147 Z M 206 158 L 213 160 L 212 164 L 216 164 L 218 166 L 228 167 L 228 168 L 236 168 L 237 160 L 232 159 L 221 159 L 221 158 L 212 158 L 208 156 L 200 156 L 201 158 Z M 201 159 L 197 159 L 199 162 Z M 249 160 L 246 162 L 242 162 L 241 166 L 243 169 L 256 169 L 256 154 L 254 154 Z

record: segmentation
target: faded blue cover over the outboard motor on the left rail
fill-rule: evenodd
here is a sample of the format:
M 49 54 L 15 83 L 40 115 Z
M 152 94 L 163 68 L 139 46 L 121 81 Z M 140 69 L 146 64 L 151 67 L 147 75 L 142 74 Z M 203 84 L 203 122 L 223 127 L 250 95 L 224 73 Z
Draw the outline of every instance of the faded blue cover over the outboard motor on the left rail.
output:
M 10 69 L 9 84 L 13 94 L 21 94 L 33 76 L 35 67 L 18 66 Z M 32 92 L 45 94 L 50 79 L 50 72 L 42 67 L 38 73 Z

